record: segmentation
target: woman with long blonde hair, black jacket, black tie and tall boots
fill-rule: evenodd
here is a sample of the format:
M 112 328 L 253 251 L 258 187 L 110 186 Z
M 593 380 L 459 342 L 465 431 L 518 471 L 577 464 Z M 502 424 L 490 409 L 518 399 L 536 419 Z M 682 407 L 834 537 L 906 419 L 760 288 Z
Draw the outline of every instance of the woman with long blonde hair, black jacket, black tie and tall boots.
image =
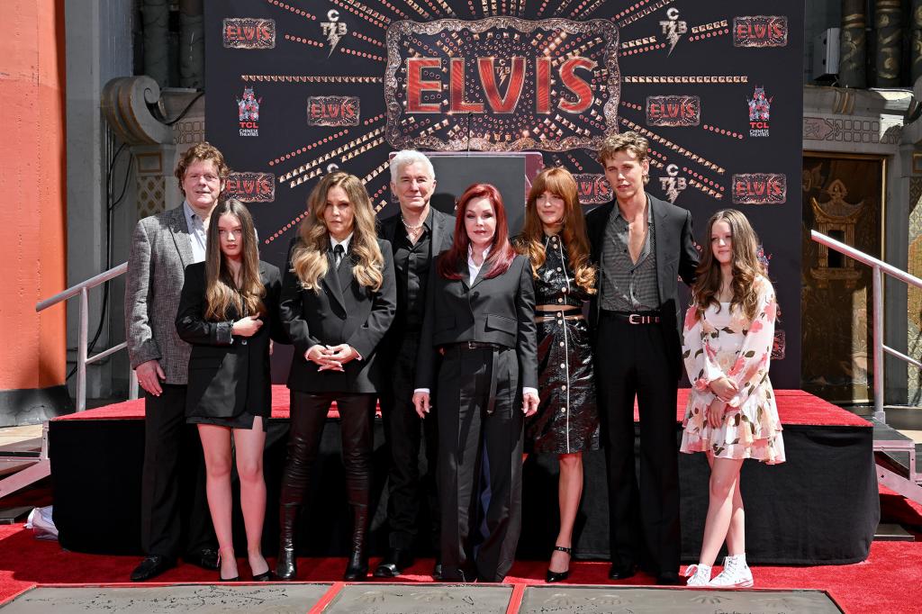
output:
M 280 317 L 291 342 L 291 431 L 282 475 L 278 577 L 292 580 L 298 509 L 320 446 L 326 412 L 337 402 L 343 465 L 352 508 L 352 545 L 344 578 L 368 573 L 372 419 L 383 373 L 376 348 L 396 313 L 394 256 L 377 238 L 361 180 L 332 172 L 313 188 L 282 282 Z

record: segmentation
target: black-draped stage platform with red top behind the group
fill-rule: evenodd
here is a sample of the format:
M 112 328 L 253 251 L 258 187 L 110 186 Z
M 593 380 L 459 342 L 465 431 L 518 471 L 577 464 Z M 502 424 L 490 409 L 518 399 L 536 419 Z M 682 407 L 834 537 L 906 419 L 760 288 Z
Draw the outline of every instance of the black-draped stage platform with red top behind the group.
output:
M 278 535 L 278 482 L 288 435 L 287 391 L 274 391 L 266 438 L 268 503 L 264 549 Z M 684 395 L 680 391 L 680 406 Z M 868 557 L 880 518 L 872 428 L 839 407 L 801 391 L 776 391 L 787 462 L 742 469 L 747 559 L 757 564 L 844 564 Z M 678 415 L 678 412 L 677 412 Z M 143 403 L 126 402 L 55 419 L 49 428 L 54 523 L 61 546 L 80 552 L 140 553 L 140 484 L 144 455 Z M 636 426 L 636 425 L 635 425 Z M 677 440 L 680 424 L 676 425 Z M 635 440 L 636 441 L 636 440 Z M 523 538 L 518 555 L 545 560 L 556 536 L 557 466 L 553 456 L 529 457 L 524 485 Z M 381 420 L 375 424 L 372 554 L 386 549 L 387 455 Z M 312 502 L 301 518 L 299 550 L 307 556 L 345 556 L 350 514 L 339 460 L 337 419 L 324 432 Z M 697 561 L 707 511 L 708 468 L 703 455 L 680 455 L 682 559 Z M 244 549 L 236 510 L 238 548 Z M 423 520 L 422 522 L 425 522 Z M 608 499 L 602 451 L 585 455 L 585 490 L 576 526 L 575 555 L 608 558 Z M 425 553 L 425 545 L 420 554 Z

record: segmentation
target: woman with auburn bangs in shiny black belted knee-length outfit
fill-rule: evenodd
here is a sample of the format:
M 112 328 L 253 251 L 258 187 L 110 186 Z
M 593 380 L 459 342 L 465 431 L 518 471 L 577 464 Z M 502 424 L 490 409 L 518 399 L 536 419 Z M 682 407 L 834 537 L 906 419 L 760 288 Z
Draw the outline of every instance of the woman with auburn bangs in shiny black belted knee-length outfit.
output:
M 561 527 L 547 581 L 570 574 L 573 523 L 583 492 L 583 452 L 598 449 L 592 349 L 583 301 L 595 294 L 596 269 L 569 171 L 545 169 L 532 183 L 525 228 L 516 242 L 531 261 L 538 324 L 538 413 L 526 420 L 525 450 L 558 455 Z

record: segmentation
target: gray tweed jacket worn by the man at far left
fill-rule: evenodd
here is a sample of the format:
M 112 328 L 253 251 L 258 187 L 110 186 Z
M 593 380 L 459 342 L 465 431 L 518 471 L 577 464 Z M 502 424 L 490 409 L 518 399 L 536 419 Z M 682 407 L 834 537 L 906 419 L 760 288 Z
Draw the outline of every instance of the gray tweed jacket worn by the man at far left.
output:
M 124 292 L 125 337 L 132 369 L 160 360 L 167 384 L 186 384 L 192 346 L 176 333 L 185 267 L 193 263 L 183 207 L 137 222 Z

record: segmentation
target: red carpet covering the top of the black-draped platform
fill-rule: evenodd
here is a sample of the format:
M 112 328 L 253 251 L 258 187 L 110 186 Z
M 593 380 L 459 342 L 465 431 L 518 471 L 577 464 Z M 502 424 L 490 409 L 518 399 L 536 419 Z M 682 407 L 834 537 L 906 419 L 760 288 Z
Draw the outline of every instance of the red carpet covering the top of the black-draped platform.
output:
M 685 415 L 685 405 L 688 402 L 689 391 L 680 389 L 679 402 L 676 407 L 676 420 L 681 421 Z M 842 407 L 823 401 L 818 396 L 812 396 L 803 390 L 775 390 L 775 399 L 778 404 L 778 416 L 782 424 L 811 424 L 821 426 L 870 426 L 870 423 L 859 418 Z M 336 405 L 330 411 L 332 418 L 338 418 Z M 289 391 L 283 385 L 272 386 L 272 417 L 286 419 L 289 417 Z M 79 414 L 68 414 L 56 418 L 59 420 L 72 419 L 139 419 L 144 418 L 144 401 L 124 401 L 105 407 L 89 409 Z M 637 419 L 636 410 L 634 419 Z

